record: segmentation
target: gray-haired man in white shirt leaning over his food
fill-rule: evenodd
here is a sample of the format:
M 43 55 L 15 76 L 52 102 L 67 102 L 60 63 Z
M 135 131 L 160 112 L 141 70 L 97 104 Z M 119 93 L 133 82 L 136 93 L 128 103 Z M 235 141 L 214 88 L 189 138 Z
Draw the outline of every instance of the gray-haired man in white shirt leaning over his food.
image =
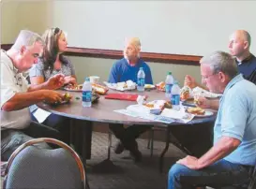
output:
M 28 86 L 23 77 L 38 62 L 44 42 L 38 34 L 23 30 L 8 51 L 1 50 L 1 161 L 32 138 L 59 138 L 53 128 L 31 122 L 28 107 L 41 101 L 63 99 L 53 91 L 63 85 L 63 76 L 56 75 L 40 85 Z M 38 145 L 49 148 L 47 144 Z

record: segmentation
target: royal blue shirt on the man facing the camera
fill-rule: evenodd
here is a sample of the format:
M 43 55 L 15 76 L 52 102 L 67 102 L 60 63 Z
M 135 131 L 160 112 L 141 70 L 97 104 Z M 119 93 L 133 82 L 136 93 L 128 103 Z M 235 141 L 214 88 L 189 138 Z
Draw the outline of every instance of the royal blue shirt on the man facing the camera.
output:
M 109 76 L 109 82 L 116 83 L 127 80 L 137 82 L 137 74 L 140 67 L 143 67 L 143 71 L 145 73 L 145 84 L 153 84 L 150 67 L 146 65 L 142 59 L 139 59 L 136 65 L 129 65 L 126 58 L 123 58 L 113 64 Z

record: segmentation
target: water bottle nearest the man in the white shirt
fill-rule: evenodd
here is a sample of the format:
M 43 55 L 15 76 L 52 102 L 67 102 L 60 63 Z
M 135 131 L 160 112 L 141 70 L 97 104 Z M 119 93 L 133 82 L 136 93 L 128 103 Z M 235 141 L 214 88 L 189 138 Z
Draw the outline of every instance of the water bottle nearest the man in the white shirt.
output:
M 92 106 L 92 84 L 89 78 L 86 78 L 83 82 L 83 95 L 82 95 L 82 106 L 91 107 Z

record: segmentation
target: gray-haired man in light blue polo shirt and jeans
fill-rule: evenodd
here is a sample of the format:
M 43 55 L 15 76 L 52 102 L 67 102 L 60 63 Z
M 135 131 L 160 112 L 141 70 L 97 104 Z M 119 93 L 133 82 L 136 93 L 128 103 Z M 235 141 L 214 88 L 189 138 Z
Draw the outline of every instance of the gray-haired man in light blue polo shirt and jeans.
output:
M 238 75 L 233 57 L 216 51 L 203 57 L 202 81 L 223 94 L 214 126 L 214 146 L 202 157 L 186 156 L 169 171 L 168 189 L 207 185 L 247 188 L 256 164 L 256 86 Z

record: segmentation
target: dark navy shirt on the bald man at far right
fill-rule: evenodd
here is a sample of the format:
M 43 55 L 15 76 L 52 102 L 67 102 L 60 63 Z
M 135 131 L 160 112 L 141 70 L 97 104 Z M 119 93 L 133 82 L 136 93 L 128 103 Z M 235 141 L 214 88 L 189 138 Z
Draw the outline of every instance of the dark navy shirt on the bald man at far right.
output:
M 248 58 L 239 63 L 236 60 L 238 65 L 238 70 L 246 80 L 249 80 L 256 84 L 256 57 L 253 54 L 250 54 Z

